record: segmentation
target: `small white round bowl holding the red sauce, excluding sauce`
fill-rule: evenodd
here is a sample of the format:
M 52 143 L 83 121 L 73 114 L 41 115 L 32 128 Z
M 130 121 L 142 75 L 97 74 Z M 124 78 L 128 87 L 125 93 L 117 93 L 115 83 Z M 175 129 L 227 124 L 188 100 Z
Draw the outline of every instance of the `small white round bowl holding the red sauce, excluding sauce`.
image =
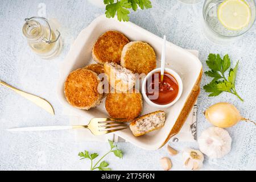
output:
M 179 85 L 179 92 L 178 92 L 177 97 L 175 98 L 175 100 L 172 101 L 171 103 L 165 104 L 165 105 L 155 104 L 154 102 L 152 102 L 147 97 L 146 86 L 147 86 L 148 78 L 150 78 L 152 75 L 154 75 L 154 73 L 159 73 L 160 71 L 161 71 L 161 68 L 154 69 L 153 71 L 148 73 L 148 75 L 144 78 L 143 83 L 142 83 L 142 95 L 143 95 L 143 98 L 147 102 L 148 105 L 150 105 L 152 107 L 159 108 L 159 109 L 164 109 L 164 108 L 171 107 L 172 105 L 174 105 L 179 100 L 179 98 L 180 98 L 180 96 L 181 96 L 181 94 L 183 92 L 183 84 L 182 84 L 182 80 L 181 80 L 180 76 L 175 71 L 173 71 L 170 68 L 165 68 L 164 71 L 166 73 L 169 73 L 170 75 L 172 75 L 175 78 L 175 80 L 177 81 L 177 84 Z

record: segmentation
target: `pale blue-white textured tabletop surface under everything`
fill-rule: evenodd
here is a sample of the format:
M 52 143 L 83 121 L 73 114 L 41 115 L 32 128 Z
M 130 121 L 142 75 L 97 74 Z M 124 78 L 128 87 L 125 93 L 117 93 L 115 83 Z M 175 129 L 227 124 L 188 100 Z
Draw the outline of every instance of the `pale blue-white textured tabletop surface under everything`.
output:
M 203 1 L 202 1 L 203 2 Z M 57 59 L 41 60 L 30 51 L 22 35 L 24 18 L 38 15 L 40 3 L 46 5 L 47 18 L 56 18 L 61 23 L 64 39 L 63 52 Z M 205 38 L 201 27 L 203 3 L 186 5 L 176 0 L 152 1 L 154 8 L 132 13 L 131 22 L 158 35 L 167 35 L 170 42 L 187 49 L 199 49 L 200 60 L 207 69 L 205 60 L 209 53 L 229 53 L 233 65 L 240 60 L 237 90 L 245 102 L 223 93 L 215 98 L 207 97 L 202 90 L 199 96 L 198 134 L 207 129 L 203 111 L 220 101 L 231 102 L 247 118 L 256 120 L 256 27 L 240 40 L 231 44 L 214 44 Z M 89 162 L 79 160 L 78 152 L 89 150 L 100 155 L 108 150 L 108 144 L 74 142 L 73 133 L 67 131 L 40 133 L 7 133 L 11 127 L 68 125 L 68 118 L 61 115 L 62 107 L 56 97 L 58 64 L 64 60 L 73 40 L 104 10 L 88 1 L 0 1 L 0 79 L 27 92 L 42 96 L 55 108 L 53 117 L 9 89 L 0 86 L 0 169 L 2 170 L 86 170 Z M 210 78 L 203 77 L 202 87 Z M 228 129 L 232 136 L 232 151 L 222 159 L 206 158 L 203 169 L 256 169 L 256 127 L 241 122 Z M 101 147 L 99 147 L 101 146 Z M 118 146 L 125 152 L 122 160 L 109 156 L 107 161 L 114 170 L 160 170 L 159 159 L 168 156 L 166 147 L 158 151 L 144 151 L 129 143 Z M 182 150 L 195 147 L 196 143 L 177 143 L 172 146 Z M 182 170 L 180 155 L 171 158 L 174 168 Z

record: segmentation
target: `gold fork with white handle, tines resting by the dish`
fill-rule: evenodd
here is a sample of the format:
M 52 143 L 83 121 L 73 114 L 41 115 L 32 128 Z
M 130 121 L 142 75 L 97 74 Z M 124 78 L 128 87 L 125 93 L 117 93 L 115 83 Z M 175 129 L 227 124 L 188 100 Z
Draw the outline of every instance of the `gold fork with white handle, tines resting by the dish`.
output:
M 15 129 L 7 129 L 7 131 L 53 131 L 53 130 L 69 130 L 69 129 L 89 129 L 93 135 L 104 135 L 113 133 L 115 131 L 127 129 L 121 119 L 112 118 L 93 118 L 88 125 L 74 125 L 74 126 L 41 126 L 41 127 L 20 127 Z

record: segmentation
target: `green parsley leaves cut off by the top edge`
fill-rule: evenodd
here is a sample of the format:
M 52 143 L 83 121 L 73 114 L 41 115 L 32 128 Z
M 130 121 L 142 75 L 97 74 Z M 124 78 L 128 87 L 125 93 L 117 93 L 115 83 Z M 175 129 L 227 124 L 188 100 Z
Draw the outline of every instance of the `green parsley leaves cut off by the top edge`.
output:
M 106 5 L 106 17 L 114 18 L 115 14 L 117 14 L 117 19 L 121 22 L 129 21 L 130 11 L 128 9 L 133 9 L 137 11 L 138 6 L 144 9 L 150 9 L 152 7 L 151 2 L 149 0 L 117 0 L 114 3 L 114 0 L 104 0 L 104 4 Z

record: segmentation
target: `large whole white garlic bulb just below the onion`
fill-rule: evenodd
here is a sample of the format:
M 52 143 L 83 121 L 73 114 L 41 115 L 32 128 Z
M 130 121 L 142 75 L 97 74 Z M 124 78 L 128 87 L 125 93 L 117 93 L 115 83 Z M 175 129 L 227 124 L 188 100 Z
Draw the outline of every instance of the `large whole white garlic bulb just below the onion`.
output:
M 200 151 L 209 158 L 222 158 L 228 154 L 231 142 L 228 131 L 220 127 L 210 127 L 203 131 L 198 140 Z

